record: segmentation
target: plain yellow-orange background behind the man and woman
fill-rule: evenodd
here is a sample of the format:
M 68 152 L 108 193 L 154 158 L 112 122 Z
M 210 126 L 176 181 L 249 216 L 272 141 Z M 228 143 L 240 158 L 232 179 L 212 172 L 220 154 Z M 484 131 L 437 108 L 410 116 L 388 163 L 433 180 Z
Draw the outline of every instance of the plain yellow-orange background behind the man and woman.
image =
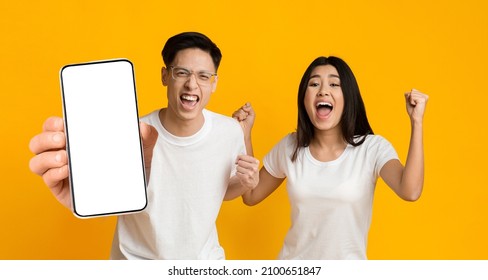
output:
M 65 64 L 126 57 L 140 114 L 164 106 L 160 51 L 182 31 L 203 32 L 223 51 L 208 108 L 230 115 L 252 102 L 259 159 L 294 131 L 298 84 L 319 55 L 349 63 L 374 131 L 402 161 L 403 92 L 429 94 L 423 196 L 403 202 L 379 180 L 369 258 L 488 259 L 487 14 L 484 0 L 2 0 L 0 259 L 108 258 L 115 218 L 80 220 L 57 203 L 28 169 L 28 142 L 62 114 Z M 218 219 L 229 259 L 274 259 L 288 226 L 284 186 L 252 208 L 225 202 Z

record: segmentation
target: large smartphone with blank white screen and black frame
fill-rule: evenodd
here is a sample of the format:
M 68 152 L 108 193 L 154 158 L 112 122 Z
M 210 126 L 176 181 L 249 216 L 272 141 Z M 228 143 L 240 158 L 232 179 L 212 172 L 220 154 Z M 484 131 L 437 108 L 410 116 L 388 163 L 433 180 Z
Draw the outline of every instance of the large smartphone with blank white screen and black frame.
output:
M 142 211 L 147 193 L 133 64 L 70 64 L 60 80 L 74 214 Z

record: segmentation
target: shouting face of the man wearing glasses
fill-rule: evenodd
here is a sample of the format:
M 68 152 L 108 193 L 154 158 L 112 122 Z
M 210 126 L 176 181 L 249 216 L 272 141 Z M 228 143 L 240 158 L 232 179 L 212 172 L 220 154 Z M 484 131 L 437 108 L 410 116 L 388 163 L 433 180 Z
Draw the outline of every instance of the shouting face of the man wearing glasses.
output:
M 186 78 L 179 75 L 178 78 L 178 70 L 174 67 L 189 70 L 193 74 Z M 182 121 L 201 117 L 202 110 L 217 86 L 217 80 L 213 83 L 202 80 L 203 75 L 208 73 L 215 73 L 210 54 L 197 48 L 179 51 L 171 65 L 162 69 L 163 85 L 168 87 L 168 113 Z

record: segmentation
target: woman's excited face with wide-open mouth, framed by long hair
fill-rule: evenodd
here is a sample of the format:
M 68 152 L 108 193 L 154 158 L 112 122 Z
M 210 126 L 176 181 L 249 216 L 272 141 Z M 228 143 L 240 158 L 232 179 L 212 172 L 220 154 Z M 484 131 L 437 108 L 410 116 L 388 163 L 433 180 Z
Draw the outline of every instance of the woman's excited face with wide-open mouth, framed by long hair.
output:
M 341 131 L 344 95 L 334 66 L 321 65 L 312 71 L 305 92 L 305 109 L 315 130 Z

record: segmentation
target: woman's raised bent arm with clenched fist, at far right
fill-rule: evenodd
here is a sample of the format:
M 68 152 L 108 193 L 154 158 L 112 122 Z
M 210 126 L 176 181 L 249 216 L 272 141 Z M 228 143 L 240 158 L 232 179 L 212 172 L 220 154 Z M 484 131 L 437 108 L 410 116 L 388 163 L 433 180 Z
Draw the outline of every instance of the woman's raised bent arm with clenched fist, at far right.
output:
M 411 121 L 410 146 L 405 167 L 398 160 L 390 160 L 380 171 L 385 183 L 402 199 L 420 198 L 424 184 L 423 116 L 428 96 L 412 90 L 405 94 Z

